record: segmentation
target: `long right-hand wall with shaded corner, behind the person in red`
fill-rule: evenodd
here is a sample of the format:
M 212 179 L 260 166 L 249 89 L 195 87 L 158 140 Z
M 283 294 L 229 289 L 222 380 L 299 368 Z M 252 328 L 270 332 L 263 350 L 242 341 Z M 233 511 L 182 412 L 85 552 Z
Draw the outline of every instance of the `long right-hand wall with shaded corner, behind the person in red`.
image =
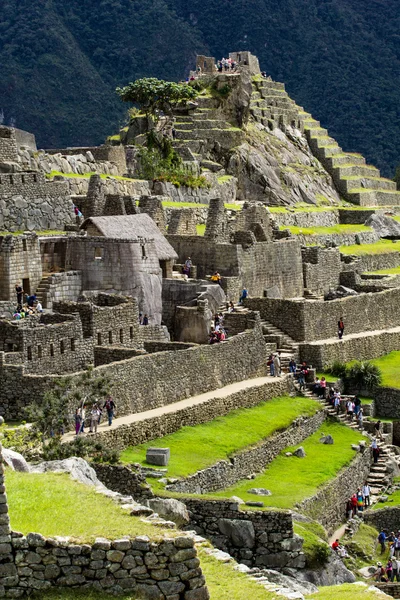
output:
M 248 298 L 245 305 L 299 342 L 335 337 L 341 316 L 345 336 L 400 325 L 400 288 L 329 302 Z

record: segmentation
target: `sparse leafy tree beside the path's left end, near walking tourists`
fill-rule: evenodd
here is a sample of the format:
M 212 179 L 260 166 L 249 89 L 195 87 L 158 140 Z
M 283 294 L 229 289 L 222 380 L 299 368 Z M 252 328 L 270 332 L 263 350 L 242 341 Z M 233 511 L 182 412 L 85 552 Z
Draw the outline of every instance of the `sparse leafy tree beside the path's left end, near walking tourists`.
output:
M 60 438 L 65 427 L 72 421 L 74 409 L 91 407 L 95 402 L 102 403 L 110 391 L 110 380 L 97 375 L 93 367 L 78 377 L 66 377 L 55 381 L 40 403 L 27 409 L 33 422 L 33 429 L 42 435 L 43 441 Z

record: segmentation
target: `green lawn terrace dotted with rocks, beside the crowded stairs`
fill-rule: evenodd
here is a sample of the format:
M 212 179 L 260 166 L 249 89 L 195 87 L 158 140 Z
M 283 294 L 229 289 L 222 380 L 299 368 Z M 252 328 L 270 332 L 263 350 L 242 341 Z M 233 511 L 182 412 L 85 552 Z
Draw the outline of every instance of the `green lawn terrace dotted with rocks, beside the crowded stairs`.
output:
M 334 444 L 319 442 L 321 435 L 332 435 Z M 328 483 L 355 457 L 351 444 L 366 439 L 359 432 L 339 423 L 326 422 L 316 433 L 298 446 L 306 451 L 305 458 L 287 457 L 298 446 L 286 448 L 260 475 L 252 480 L 239 481 L 221 492 L 208 494 L 213 497 L 239 496 L 244 501 L 261 499 L 266 507 L 292 508 L 298 502 L 313 496 L 318 488 Z M 258 498 L 249 494 L 251 488 L 266 488 L 271 496 Z

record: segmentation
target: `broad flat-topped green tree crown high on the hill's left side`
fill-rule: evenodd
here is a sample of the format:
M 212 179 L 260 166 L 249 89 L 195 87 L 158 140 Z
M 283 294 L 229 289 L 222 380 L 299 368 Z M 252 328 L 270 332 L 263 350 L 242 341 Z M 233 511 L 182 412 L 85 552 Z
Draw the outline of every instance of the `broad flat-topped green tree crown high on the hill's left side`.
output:
M 155 77 L 137 79 L 123 88 L 118 87 L 116 92 L 123 102 L 138 104 L 147 117 L 156 116 L 159 110 L 171 114 L 173 108 L 197 96 L 196 90 L 186 83 L 163 81 Z

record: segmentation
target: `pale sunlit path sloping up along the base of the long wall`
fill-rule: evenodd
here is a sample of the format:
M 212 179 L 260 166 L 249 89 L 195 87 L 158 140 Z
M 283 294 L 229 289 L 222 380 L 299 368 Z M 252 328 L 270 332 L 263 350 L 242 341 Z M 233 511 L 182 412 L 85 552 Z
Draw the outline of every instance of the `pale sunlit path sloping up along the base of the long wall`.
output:
M 130 415 L 126 415 L 124 417 L 115 418 L 113 420 L 113 424 L 111 425 L 111 427 L 108 425 L 108 422 L 107 422 L 107 414 L 103 413 L 103 422 L 99 425 L 97 433 L 101 434 L 102 432 L 109 431 L 110 429 L 117 429 L 121 425 L 130 425 L 131 423 L 138 423 L 140 421 L 145 421 L 147 419 L 159 417 L 161 415 L 165 415 L 168 413 L 174 413 L 179 410 L 182 410 L 182 408 L 188 408 L 191 406 L 197 406 L 199 404 L 203 404 L 204 402 L 207 402 L 207 401 L 211 400 L 212 398 L 225 398 L 227 396 L 230 396 L 231 394 L 240 392 L 242 390 L 247 390 L 252 387 L 260 387 L 268 382 L 272 383 L 273 381 L 276 381 L 276 380 L 277 380 L 276 377 L 266 376 L 266 377 L 256 377 L 254 379 L 246 379 L 245 381 L 231 383 L 230 385 L 227 385 L 223 388 L 212 390 L 211 392 L 206 392 L 206 393 L 200 394 L 198 396 L 191 396 L 190 398 L 186 398 L 185 400 L 180 400 L 179 402 L 174 402 L 173 404 L 167 404 L 165 406 L 160 406 L 159 408 L 154 408 L 152 410 L 146 410 L 141 413 L 133 413 Z M 86 430 L 88 431 L 89 428 L 87 427 Z M 90 434 L 86 434 L 86 433 L 83 435 L 90 436 Z M 75 437 L 76 437 L 75 434 L 72 431 L 70 431 L 63 436 L 62 441 L 63 442 L 71 442 Z

